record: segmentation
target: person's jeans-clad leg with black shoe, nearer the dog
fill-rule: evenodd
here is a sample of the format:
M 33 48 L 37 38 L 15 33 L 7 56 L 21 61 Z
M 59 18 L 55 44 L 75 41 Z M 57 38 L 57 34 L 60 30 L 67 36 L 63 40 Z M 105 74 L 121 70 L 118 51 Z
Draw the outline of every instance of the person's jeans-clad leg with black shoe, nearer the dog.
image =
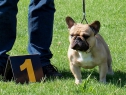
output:
M 53 35 L 54 12 L 54 0 L 31 0 L 30 2 L 28 15 L 28 52 L 29 54 L 40 55 L 41 65 L 47 76 L 50 75 L 49 73 L 56 76 L 59 75 L 50 64 L 50 59 L 52 58 L 50 45 Z M 53 70 L 46 68 L 52 68 Z

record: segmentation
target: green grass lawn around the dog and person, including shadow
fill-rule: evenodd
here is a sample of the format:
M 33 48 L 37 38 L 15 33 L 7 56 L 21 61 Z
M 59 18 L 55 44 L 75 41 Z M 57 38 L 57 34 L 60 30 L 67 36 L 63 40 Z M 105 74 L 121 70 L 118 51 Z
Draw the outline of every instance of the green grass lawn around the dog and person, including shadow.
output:
M 109 45 L 113 59 L 113 76 L 107 76 L 107 84 L 98 82 L 98 68 L 82 69 L 83 83 L 74 84 L 67 58 L 68 29 L 65 17 L 71 16 L 76 22 L 83 17 L 82 0 L 55 0 L 54 35 L 51 62 L 63 74 L 61 79 L 46 82 L 15 84 L 14 81 L 0 81 L 0 95 L 125 95 L 126 91 L 126 2 L 124 0 L 85 0 L 86 18 L 89 23 L 101 22 L 100 34 Z M 27 53 L 28 29 L 27 12 L 29 0 L 20 0 L 17 15 L 17 39 L 10 55 Z M 85 23 L 85 22 L 84 22 Z M 92 75 L 87 78 L 92 72 Z M 85 83 L 86 82 L 86 83 Z

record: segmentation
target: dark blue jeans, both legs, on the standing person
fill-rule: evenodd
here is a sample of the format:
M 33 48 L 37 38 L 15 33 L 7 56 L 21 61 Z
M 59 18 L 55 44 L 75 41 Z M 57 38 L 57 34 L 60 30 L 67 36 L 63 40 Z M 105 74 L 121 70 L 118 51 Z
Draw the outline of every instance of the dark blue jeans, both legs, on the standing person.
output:
M 0 66 L 3 67 L 6 66 L 9 56 L 6 53 L 12 49 L 16 39 L 18 1 L 0 0 Z M 29 54 L 39 54 L 42 66 L 50 64 L 50 58 L 52 58 L 50 45 L 54 12 L 54 0 L 30 0 L 28 52 Z M 23 45 L 23 43 L 18 44 Z

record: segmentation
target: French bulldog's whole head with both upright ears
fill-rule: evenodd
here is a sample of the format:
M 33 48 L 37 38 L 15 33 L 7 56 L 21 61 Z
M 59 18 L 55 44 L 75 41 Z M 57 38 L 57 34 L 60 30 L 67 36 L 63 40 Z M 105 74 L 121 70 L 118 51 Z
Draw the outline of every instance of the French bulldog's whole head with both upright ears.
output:
M 66 17 L 66 23 L 69 29 L 69 41 L 72 49 L 86 52 L 93 47 L 96 39 L 95 35 L 100 28 L 99 21 L 84 25 L 75 23 L 71 17 Z

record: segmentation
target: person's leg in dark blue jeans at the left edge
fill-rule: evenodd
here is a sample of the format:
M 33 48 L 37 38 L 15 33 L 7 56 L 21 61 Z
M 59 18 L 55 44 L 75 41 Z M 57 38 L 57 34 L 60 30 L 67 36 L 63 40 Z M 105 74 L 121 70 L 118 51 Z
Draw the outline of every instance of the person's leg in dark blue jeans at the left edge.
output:
M 16 38 L 18 0 L 0 0 L 0 75 L 7 63 L 6 52 L 11 50 Z

